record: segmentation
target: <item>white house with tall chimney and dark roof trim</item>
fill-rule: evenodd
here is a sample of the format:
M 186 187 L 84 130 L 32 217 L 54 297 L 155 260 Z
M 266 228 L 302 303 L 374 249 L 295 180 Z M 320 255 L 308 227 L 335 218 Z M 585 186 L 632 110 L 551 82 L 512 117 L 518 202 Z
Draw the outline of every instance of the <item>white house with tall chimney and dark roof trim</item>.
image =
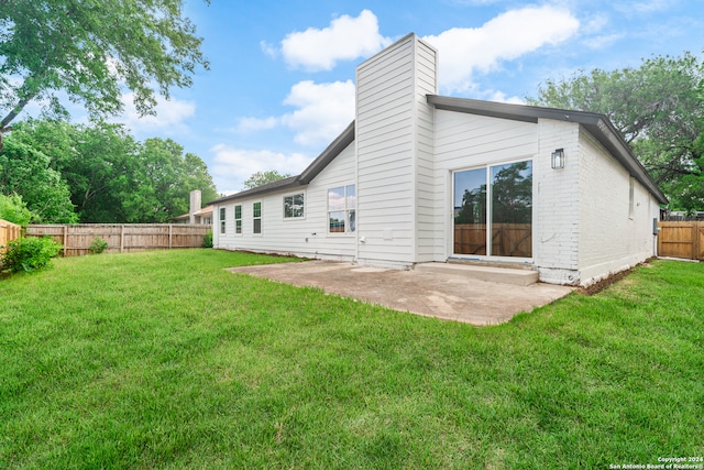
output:
M 438 96 L 414 34 L 358 67 L 356 119 L 300 175 L 212 203 L 213 244 L 587 285 L 654 254 L 662 192 L 605 116 Z

